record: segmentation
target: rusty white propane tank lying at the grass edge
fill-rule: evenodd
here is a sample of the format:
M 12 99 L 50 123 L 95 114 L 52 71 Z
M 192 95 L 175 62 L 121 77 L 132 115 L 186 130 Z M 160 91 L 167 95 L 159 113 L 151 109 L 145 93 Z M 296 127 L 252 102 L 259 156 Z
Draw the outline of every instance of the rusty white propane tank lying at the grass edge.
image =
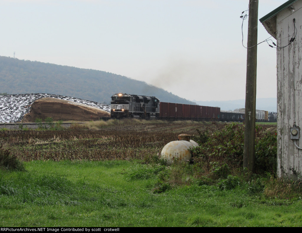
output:
M 191 159 L 190 147 L 198 146 L 196 142 L 190 140 L 190 135 L 179 134 L 178 141 L 169 142 L 162 148 L 161 158 L 168 164 L 174 161 L 187 161 Z

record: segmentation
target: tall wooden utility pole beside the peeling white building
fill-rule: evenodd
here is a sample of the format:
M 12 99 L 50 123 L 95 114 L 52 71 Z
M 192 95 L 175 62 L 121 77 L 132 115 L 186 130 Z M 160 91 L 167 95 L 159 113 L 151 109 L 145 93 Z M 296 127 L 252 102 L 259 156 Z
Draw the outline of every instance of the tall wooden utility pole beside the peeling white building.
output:
M 246 59 L 246 103 L 244 119 L 243 168 L 249 173 L 255 171 L 255 115 L 256 115 L 256 74 L 258 0 L 249 0 L 249 27 Z

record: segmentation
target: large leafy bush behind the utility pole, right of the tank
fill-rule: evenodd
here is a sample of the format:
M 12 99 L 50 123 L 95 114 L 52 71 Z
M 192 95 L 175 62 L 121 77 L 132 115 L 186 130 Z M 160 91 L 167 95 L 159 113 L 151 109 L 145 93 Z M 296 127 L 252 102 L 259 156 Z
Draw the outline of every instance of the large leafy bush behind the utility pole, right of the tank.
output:
M 236 123 L 225 124 L 212 136 L 198 131 L 200 146 L 191 150 L 194 163 L 207 173 L 226 177 L 231 170 L 243 167 L 244 126 Z M 277 169 L 277 136 L 265 133 L 256 126 L 255 173 L 275 173 Z

